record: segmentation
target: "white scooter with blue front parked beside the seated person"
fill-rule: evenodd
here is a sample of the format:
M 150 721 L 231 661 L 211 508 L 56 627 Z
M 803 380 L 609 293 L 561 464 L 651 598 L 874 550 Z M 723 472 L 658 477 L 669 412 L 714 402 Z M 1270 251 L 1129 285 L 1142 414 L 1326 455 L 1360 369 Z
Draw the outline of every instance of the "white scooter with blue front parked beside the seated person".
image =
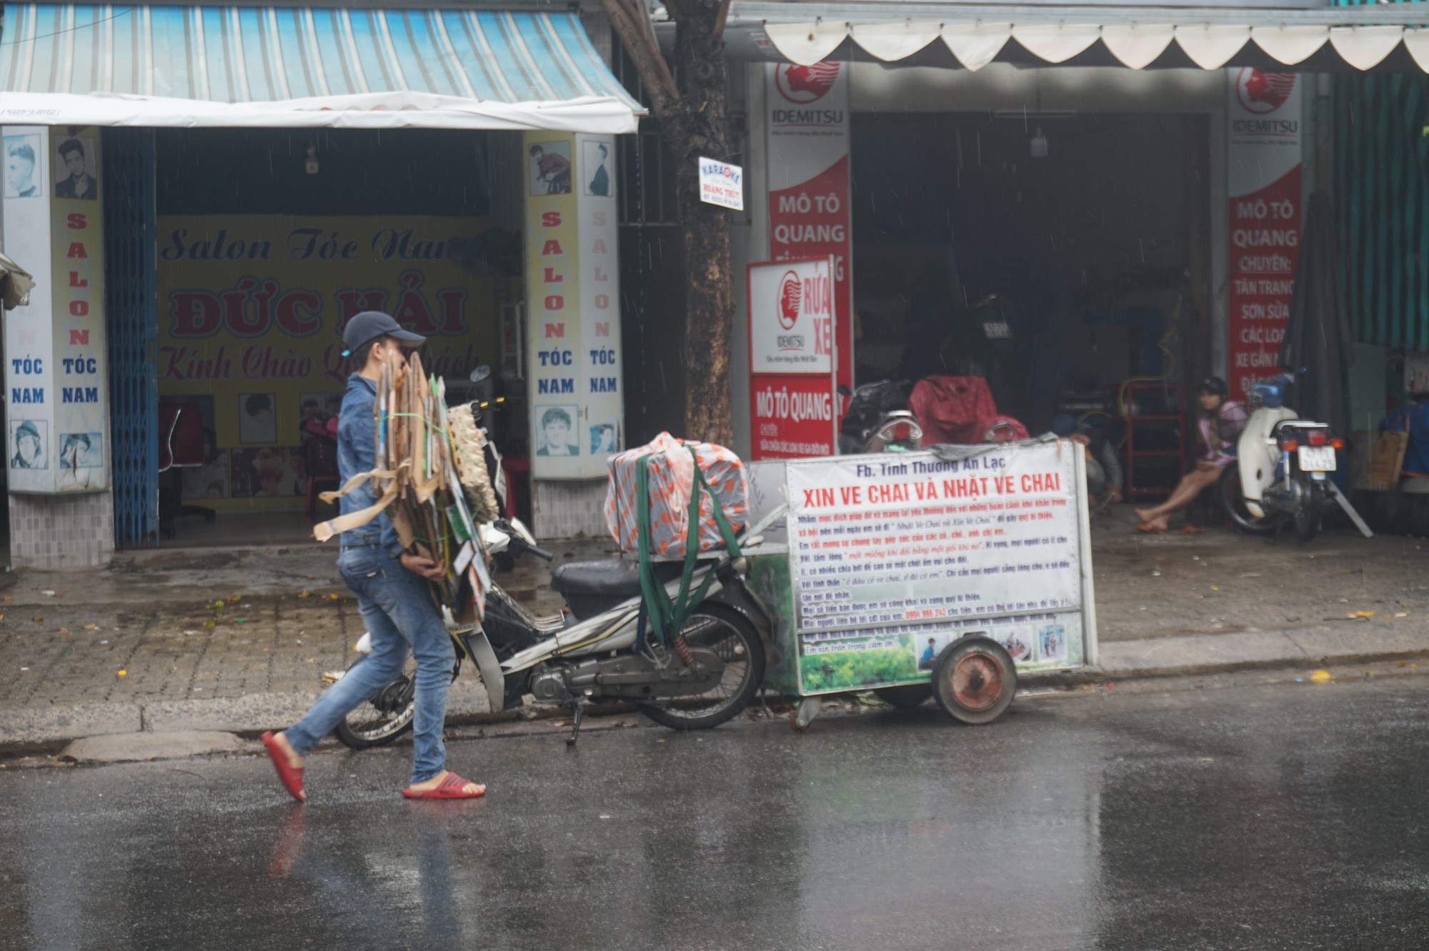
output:
M 1302 543 L 1313 541 L 1325 513 L 1336 503 L 1358 520 L 1330 481 L 1336 450 L 1345 441 L 1325 423 L 1302 420 L 1285 406 L 1286 377 L 1250 388 L 1255 407 L 1236 443 L 1236 464 L 1220 476 L 1220 503 L 1238 527 L 1253 534 L 1293 527 Z

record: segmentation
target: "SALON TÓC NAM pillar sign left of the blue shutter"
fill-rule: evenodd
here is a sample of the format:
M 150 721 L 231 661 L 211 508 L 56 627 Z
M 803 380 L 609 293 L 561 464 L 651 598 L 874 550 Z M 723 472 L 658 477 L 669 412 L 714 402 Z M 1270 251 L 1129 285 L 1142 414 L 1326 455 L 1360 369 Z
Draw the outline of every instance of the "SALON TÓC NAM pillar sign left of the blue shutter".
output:
M 4 248 L 34 274 L 4 316 L 6 458 L 14 493 L 109 487 L 109 346 L 100 136 L 6 126 Z

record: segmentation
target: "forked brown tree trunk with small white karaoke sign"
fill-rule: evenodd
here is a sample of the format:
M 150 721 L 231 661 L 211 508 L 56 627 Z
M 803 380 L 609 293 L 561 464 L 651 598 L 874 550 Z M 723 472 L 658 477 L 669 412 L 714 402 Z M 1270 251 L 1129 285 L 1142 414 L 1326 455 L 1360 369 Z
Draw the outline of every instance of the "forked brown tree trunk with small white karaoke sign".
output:
M 725 17 L 729 0 L 669 0 L 674 20 L 674 81 L 643 19 L 643 0 L 603 0 L 602 6 L 630 53 L 650 94 L 650 111 L 676 160 L 680 226 L 684 237 L 684 438 L 729 446 L 730 333 L 735 320 L 729 211 L 700 201 L 700 157 L 726 161 Z

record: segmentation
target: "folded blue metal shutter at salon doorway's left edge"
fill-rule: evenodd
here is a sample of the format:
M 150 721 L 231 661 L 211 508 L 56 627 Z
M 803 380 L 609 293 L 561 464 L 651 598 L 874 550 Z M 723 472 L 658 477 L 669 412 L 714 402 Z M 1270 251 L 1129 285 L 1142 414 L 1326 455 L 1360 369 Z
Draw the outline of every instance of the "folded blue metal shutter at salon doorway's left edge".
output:
M 136 548 L 159 544 L 154 131 L 104 129 L 103 137 L 114 547 Z

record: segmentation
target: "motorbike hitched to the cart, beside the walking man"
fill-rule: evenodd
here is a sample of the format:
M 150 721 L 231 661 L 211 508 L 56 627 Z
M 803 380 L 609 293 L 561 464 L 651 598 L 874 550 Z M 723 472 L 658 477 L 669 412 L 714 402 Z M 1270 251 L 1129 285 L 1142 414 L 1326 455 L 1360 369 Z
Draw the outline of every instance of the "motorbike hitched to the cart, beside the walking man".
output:
M 747 528 L 740 548 L 757 550 L 763 541 L 759 533 L 783 511 L 782 505 Z M 517 518 L 496 518 L 480 525 L 479 533 L 494 558 L 526 553 L 544 561 L 553 558 Z M 652 568 L 666 597 L 680 591 L 683 561 L 654 561 Z M 717 727 L 743 711 L 765 680 L 772 618 L 745 584 L 747 568 L 743 554 L 714 551 L 702 557 L 684 590 L 699 591 L 706 577 L 713 577 L 704 597 L 664 644 L 652 635 L 634 561 L 557 567 L 552 587 L 566 608 L 549 617 L 533 615 L 493 578 L 483 617 L 476 617 L 474 605 L 469 605 L 466 617 L 443 608 L 457 657 L 452 678 L 460 675 L 463 661 L 470 663 L 486 687 L 490 713 L 520 708 L 524 697 L 569 705 L 570 744 L 580 737 L 584 705 L 593 701 L 630 701 L 650 720 L 674 730 Z M 370 650 L 370 635 L 364 634 L 353 665 L 364 663 Z M 414 671 L 409 658 L 402 674 L 337 724 L 337 738 L 362 750 L 389 744 L 410 730 Z M 326 674 L 323 680 L 334 683 L 344 674 Z

